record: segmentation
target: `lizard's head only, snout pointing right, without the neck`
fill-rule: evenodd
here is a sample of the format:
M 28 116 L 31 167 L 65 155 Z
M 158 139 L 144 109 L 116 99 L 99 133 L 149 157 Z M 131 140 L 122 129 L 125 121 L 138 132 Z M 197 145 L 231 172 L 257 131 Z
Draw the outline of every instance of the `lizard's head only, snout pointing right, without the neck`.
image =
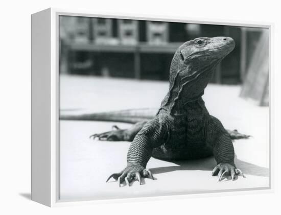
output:
M 185 77 L 214 68 L 235 47 L 231 37 L 201 37 L 183 43 L 178 48 L 178 70 Z

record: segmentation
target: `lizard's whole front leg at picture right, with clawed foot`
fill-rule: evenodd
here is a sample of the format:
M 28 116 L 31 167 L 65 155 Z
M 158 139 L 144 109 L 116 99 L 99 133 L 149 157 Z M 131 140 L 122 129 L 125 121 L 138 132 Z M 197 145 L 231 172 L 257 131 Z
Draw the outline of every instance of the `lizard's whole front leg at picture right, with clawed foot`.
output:
M 218 176 L 219 181 L 226 176 L 230 176 L 232 180 L 237 179 L 238 175 L 244 177 L 242 171 L 236 168 L 233 144 L 221 122 L 212 116 L 208 129 L 213 129 L 209 131 L 212 136 L 209 135 L 208 138 L 213 139 L 213 154 L 218 163 L 212 171 L 212 176 Z

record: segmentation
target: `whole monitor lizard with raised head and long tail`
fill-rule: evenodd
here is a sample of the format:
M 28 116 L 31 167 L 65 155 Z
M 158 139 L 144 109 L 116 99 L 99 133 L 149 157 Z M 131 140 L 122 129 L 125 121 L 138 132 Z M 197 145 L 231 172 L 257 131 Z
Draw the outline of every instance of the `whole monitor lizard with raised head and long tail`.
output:
M 201 37 L 180 45 L 170 67 L 169 91 L 153 118 L 150 114 L 138 116 L 137 111 L 132 113 L 130 110 L 121 114 L 62 115 L 60 118 L 136 123 L 129 129 L 114 126 L 116 130 L 91 135 L 100 140 L 132 141 L 126 168 L 107 179 L 113 177 L 119 181 L 119 186 L 124 180 L 129 185 L 133 179 L 139 183 L 142 177 L 153 179 L 150 170 L 146 169 L 151 156 L 165 160 L 188 160 L 214 155 L 217 165 L 212 175 L 218 176 L 219 181 L 226 176 L 232 180 L 237 179 L 238 175 L 244 177 L 234 163 L 231 138 L 248 136 L 237 130 L 224 129 L 221 122 L 208 113 L 202 100 L 216 65 L 234 47 L 235 41 L 230 37 Z

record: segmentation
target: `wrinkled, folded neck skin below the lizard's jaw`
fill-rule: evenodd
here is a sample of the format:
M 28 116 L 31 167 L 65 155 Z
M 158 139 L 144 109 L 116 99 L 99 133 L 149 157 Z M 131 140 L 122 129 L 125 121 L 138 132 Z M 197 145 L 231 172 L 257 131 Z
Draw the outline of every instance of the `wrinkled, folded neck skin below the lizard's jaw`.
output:
M 170 87 L 160 109 L 171 115 L 183 115 L 188 103 L 202 100 L 204 89 L 214 74 L 221 59 L 212 59 L 201 63 L 198 58 L 189 59 L 188 63 L 179 64 L 175 54 L 170 69 Z

